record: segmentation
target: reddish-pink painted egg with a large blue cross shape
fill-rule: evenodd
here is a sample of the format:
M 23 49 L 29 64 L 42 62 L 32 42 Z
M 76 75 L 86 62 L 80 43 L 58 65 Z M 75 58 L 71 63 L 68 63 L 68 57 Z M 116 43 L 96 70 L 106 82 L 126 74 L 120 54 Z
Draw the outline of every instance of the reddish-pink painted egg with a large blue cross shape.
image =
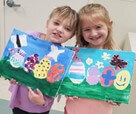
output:
M 113 84 L 115 80 L 115 72 L 112 67 L 106 67 L 104 68 L 102 75 L 100 77 L 100 83 L 104 87 L 109 87 Z

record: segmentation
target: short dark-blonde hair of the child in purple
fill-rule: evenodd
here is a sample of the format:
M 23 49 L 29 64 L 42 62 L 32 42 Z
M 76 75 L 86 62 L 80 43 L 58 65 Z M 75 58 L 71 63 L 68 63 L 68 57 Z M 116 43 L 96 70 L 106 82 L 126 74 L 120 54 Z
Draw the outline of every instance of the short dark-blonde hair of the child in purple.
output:
M 60 6 L 55 8 L 51 12 L 49 16 L 49 20 L 54 17 L 65 20 L 70 25 L 71 29 L 74 32 L 76 31 L 79 17 L 78 17 L 78 13 L 70 6 Z

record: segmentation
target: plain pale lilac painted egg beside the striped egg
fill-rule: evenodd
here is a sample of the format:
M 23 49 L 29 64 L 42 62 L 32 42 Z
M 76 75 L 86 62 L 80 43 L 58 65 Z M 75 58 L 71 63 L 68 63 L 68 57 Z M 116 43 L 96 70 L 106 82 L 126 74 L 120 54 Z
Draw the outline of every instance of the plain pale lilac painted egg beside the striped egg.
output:
M 99 69 L 96 66 L 93 66 L 87 71 L 86 82 L 89 85 L 96 85 L 99 82 L 100 75 Z

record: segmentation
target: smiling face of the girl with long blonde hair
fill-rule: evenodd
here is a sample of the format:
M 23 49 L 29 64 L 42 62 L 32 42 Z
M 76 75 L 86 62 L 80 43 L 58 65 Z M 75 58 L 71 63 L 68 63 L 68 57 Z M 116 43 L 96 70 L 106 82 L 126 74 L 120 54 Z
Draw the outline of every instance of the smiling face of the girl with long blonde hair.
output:
M 84 21 L 81 30 L 84 40 L 89 43 L 89 47 L 103 48 L 104 41 L 108 36 L 108 28 L 104 22 Z

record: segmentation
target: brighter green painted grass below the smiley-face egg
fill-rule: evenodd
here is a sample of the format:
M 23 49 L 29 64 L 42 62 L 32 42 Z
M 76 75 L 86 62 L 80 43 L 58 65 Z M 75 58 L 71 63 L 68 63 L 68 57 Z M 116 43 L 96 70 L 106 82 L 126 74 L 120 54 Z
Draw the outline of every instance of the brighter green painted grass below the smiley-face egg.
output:
M 131 85 L 129 85 L 125 90 L 120 91 L 113 85 L 110 87 L 103 87 L 100 83 L 97 85 L 89 85 L 85 80 L 81 84 L 74 84 L 68 77 L 65 77 L 59 90 L 59 94 L 105 101 L 112 100 L 113 102 L 128 104 L 130 88 Z

